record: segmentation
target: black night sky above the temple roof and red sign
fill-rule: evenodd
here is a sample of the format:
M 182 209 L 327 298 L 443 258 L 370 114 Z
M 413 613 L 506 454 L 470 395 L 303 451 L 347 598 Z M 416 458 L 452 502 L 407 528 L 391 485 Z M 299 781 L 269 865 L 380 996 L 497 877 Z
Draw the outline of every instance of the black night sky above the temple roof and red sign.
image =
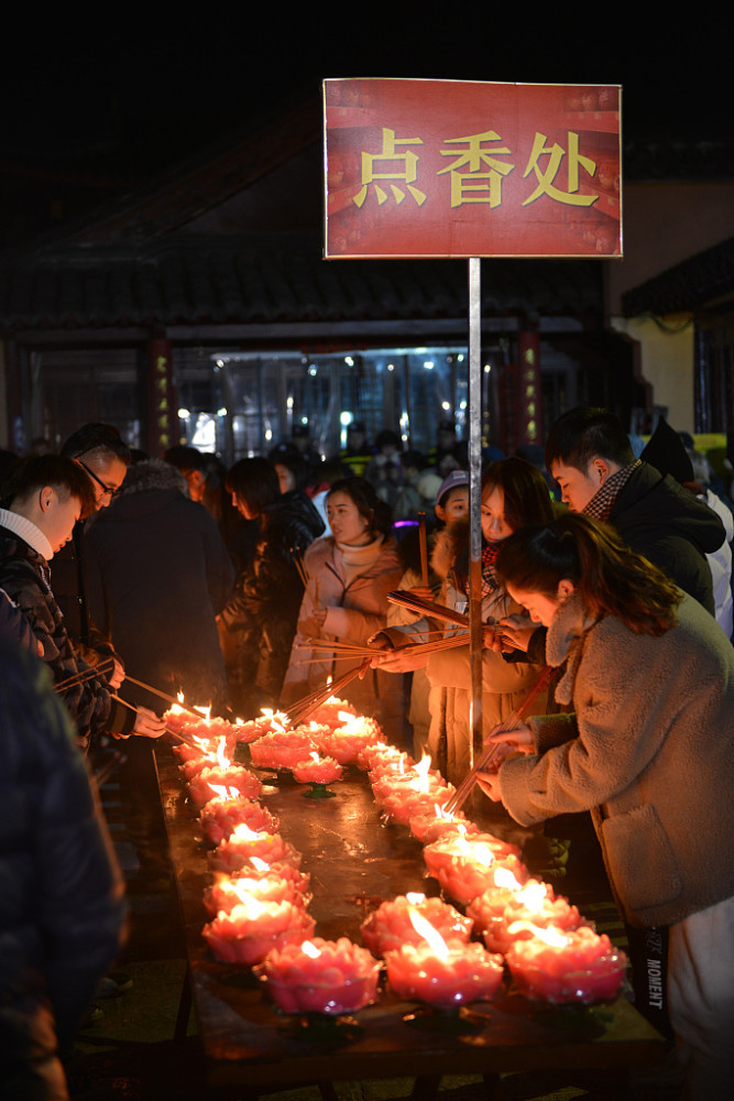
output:
M 90 207 L 142 183 L 327 76 L 622 84 L 626 138 L 731 135 L 723 35 L 699 42 L 699 28 L 659 17 L 623 25 L 632 6 L 607 6 L 606 18 L 583 4 L 555 18 L 550 6 L 494 7 L 427 0 L 396 13 L 395 0 L 371 0 L 251 17 L 218 6 L 213 24 L 182 9 L 169 24 L 140 22 L 135 9 L 99 23 L 31 19 L 6 37 L 0 65 L 0 237 L 47 228 L 54 200 L 63 217 L 75 189 Z

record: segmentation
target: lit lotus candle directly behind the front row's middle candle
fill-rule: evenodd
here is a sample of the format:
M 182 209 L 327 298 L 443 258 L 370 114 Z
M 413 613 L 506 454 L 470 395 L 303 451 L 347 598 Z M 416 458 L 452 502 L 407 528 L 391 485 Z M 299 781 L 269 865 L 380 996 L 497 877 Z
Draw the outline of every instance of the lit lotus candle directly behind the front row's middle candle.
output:
M 440 898 L 426 898 L 425 895 L 410 893 L 383 902 L 362 923 L 362 940 L 373 956 L 386 956 L 406 944 L 423 944 L 423 936 L 410 920 L 410 907 L 437 929 L 445 940 L 461 940 L 464 944 L 469 940 L 471 918 L 464 917 Z

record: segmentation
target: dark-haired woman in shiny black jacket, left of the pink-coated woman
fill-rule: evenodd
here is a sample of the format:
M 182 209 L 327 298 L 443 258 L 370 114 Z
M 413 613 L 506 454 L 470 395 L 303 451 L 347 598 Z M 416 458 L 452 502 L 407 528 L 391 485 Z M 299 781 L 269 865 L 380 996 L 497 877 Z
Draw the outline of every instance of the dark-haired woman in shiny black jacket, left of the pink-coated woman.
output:
M 235 462 L 226 487 L 235 509 L 259 528 L 254 556 L 220 615 L 233 706 L 251 717 L 277 702 L 304 591 L 294 558 L 324 524 L 305 493 L 281 493 L 274 466 L 260 456 Z

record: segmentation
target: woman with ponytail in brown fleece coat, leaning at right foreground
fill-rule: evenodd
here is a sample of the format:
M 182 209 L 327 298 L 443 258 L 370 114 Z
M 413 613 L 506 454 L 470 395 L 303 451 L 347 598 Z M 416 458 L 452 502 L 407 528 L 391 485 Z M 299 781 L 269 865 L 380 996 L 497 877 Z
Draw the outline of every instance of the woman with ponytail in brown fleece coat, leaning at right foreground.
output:
M 568 514 L 507 539 L 507 591 L 548 628 L 573 711 L 496 735 L 482 786 L 529 826 L 591 810 L 633 927 L 668 927 L 686 1097 L 734 1081 L 734 650 L 711 615 L 609 527 Z

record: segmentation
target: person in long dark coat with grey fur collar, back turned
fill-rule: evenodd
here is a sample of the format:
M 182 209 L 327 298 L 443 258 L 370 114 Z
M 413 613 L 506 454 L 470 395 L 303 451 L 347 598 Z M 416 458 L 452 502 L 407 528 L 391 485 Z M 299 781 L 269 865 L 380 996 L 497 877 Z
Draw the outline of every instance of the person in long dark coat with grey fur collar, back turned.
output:
M 109 509 L 85 535 L 91 618 L 122 657 L 125 675 L 187 704 L 227 704 L 216 617 L 234 569 L 217 525 L 189 500 L 183 475 L 150 459 L 132 466 Z M 123 683 L 122 696 L 161 697 Z M 135 739 L 120 768 L 122 813 L 140 872 L 134 889 L 165 887 L 169 864 L 150 745 Z

